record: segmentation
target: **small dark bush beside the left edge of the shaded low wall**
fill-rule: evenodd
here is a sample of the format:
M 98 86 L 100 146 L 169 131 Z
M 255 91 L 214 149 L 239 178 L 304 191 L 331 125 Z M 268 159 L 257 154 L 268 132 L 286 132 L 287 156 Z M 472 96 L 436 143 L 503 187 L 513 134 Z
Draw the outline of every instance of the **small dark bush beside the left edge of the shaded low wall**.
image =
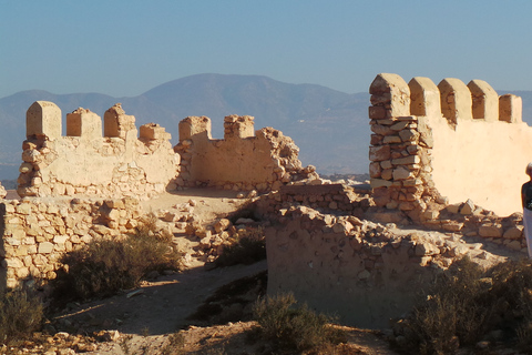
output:
M 214 261 L 216 267 L 250 265 L 266 258 L 266 239 L 262 229 L 239 233 L 236 241 L 224 246 L 222 254 Z

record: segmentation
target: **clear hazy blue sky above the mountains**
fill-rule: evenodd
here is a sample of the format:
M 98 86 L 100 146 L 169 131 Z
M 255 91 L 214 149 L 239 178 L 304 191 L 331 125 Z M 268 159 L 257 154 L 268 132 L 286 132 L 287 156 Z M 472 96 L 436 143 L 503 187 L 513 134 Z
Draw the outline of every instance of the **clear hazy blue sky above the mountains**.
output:
M 0 0 L 0 98 L 198 73 L 366 92 L 379 72 L 532 90 L 532 1 Z

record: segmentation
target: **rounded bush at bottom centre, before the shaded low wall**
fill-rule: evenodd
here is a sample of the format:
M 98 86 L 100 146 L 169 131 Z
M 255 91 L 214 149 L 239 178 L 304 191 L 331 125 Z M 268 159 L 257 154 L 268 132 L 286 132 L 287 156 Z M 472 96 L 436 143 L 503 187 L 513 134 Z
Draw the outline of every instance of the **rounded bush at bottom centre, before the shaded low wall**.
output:
M 331 327 L 330 317 L 316 314 L 306 304 L 294 307 L 293 294 L 267 296 L 255 304 L 260 334 L 285 349 L 308 351 L 338 344 L 345 333 Z

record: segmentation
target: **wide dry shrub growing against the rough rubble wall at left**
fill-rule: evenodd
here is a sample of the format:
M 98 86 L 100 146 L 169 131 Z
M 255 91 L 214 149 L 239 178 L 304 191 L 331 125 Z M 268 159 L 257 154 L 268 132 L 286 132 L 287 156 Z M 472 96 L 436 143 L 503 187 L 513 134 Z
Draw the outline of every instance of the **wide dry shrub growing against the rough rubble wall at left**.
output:
M 151 271 L 177 270 L 181 255 L 152 229 L 141 225 L 120 240 L 94 239 L 61 258 L 54 288 L 59 298 L 86 300 L 136 287 Z

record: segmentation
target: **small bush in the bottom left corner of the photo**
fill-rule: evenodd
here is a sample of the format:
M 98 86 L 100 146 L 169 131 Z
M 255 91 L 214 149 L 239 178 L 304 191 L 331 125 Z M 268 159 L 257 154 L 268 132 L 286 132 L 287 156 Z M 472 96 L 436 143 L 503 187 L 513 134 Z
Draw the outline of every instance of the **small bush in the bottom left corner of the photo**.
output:
M 41 300 L 32 292 L 17 288 L 0 295 L 0 343 L 23 339 L 43 321 Z

